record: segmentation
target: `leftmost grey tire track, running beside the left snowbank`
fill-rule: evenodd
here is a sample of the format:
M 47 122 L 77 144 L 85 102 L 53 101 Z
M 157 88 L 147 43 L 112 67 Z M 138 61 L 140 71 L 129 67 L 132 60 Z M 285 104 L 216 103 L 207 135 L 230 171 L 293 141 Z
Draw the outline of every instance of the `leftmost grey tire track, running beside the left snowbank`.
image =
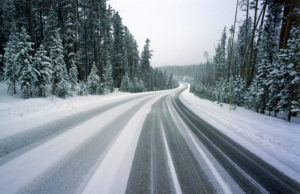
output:
M 0 139 L 0 165 L 112 108 L 145 96 L 153 95 L 155 94 L 142 95 L 113 102 Z

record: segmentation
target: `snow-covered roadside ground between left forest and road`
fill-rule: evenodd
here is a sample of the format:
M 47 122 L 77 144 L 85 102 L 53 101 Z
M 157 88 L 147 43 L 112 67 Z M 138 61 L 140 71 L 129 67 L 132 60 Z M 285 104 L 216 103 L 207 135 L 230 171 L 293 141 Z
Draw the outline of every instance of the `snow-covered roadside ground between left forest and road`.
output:
M 149 92 L 136 94 L 117 92 L 100 96 L 73 96 L 66 99 L 54 96 L 53 102 L 51 96 L 25 100 L 18 94 L 14 96 L 8 94 L 7 86 L 0 83 L 0 139 L 91 108 L 147 94 Z

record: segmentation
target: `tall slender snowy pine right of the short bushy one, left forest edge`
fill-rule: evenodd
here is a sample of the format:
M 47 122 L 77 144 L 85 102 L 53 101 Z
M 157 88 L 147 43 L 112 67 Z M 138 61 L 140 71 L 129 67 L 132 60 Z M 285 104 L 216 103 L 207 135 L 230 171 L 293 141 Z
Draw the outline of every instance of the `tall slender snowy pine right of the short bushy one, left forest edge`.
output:
M 62 40 L 58 30 L 54 32 L 52 41 L 53 46 L 50 51 L 50 58 L 53 63 L 52 92 L 59 97 L 65 97 L 69 92 L 70 84 L 64 61 Z

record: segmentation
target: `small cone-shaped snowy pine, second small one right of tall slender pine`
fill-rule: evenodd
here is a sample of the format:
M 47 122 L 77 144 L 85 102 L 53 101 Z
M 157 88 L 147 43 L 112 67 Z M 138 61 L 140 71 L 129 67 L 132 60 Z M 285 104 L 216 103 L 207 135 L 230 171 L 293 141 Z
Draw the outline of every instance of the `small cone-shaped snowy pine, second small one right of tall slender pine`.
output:
M 98 69 L 93 64 L 90 75 L 88 76 L 87 89 L 90 94 L 100 94 L 101 85 L 100 77 L 98 76 Z

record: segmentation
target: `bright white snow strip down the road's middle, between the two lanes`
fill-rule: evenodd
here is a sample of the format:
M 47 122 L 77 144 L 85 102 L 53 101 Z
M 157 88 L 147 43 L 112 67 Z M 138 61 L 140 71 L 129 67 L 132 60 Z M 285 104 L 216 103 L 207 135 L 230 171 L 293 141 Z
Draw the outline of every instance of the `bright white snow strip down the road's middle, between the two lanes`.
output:
M 170 91 L 166 91 L 157 95 L 142 106 L 130 119 L 98 169 L 96 169 L 83 193 L 98 193 L 99 191 L 101 193 L 125 193 L 144 120 L 150 112 L 151 106 L 159 98 L 169 93 Z

